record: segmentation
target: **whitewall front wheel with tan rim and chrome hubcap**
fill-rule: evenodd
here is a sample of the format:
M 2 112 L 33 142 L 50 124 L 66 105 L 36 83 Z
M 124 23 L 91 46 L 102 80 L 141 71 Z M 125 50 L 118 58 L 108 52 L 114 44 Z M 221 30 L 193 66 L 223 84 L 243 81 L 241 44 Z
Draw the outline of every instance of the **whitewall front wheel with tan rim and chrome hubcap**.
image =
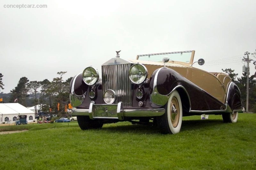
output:
M 172 92 L 168 102 L 165 104 L 165 113 L 158 118 L 157 124 L 161 133 L 176 134 L 180 132 L 182 123 L 182 105 L 177 90 Z

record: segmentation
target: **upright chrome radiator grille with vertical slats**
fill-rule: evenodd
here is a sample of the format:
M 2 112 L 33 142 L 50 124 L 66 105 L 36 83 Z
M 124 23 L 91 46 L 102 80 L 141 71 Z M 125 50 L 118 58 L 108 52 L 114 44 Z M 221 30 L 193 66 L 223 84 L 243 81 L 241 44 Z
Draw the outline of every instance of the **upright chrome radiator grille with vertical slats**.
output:
M 103 94 L 111 89 L 116 93 L 115 104 L 123 102 L 123 106 L 132 106 L 132 85 L 129 78 L 131 64 L 102 66 Z

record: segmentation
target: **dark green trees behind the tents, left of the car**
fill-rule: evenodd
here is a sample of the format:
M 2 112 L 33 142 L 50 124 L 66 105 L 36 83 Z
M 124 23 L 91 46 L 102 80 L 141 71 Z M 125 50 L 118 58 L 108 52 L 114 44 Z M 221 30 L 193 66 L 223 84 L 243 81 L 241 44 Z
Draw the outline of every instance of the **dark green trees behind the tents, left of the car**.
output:
M 65 73 L 67 72 L 57 72 L 59 76 L 53 78 L 52 81 L 48 79 L 43 81 L 29 81 L 27 77 L 21 77 L 17 86 L 11 90 L 9 103 L 18 102 L 25 107 L 42 104 L 41 110 L 44 112 L 48 112 L 52 108 L 52 112 L 64 114 L 65 105 L 69 103 L 69 85 L 72 79 L 70 77 L 64 81 L 62 76 Z M 0 89 L 4 89 L 2 77 L 3 75 L 0 73 Z M 17 101 L 14 102 L 16 99 Z M 60 103 L 59 111 L 57 109 L 58 103 Z

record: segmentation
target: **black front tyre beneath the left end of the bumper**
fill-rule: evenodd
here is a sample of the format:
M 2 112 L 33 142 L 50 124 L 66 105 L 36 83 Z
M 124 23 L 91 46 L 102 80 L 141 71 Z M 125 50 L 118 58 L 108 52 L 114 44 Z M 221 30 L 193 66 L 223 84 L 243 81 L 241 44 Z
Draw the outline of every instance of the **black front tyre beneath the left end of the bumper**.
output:
M 82 130 L 87 129 L 100 129 L 103 123 L 99 120 L 92 120 L 89 116 L 77 116 L 78 125 Z

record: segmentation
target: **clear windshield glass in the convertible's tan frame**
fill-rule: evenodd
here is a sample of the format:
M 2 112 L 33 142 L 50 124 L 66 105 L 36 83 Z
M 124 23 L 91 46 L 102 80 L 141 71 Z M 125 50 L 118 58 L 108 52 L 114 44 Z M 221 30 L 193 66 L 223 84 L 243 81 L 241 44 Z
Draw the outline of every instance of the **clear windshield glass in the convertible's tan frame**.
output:
M 194 51 L 138 55 L 137 60 L 163 62 L 163 57 L 167 56 L 170 59 L 169 61 L 190 63 L 191 56 L 194 55 L 192 52 Z

